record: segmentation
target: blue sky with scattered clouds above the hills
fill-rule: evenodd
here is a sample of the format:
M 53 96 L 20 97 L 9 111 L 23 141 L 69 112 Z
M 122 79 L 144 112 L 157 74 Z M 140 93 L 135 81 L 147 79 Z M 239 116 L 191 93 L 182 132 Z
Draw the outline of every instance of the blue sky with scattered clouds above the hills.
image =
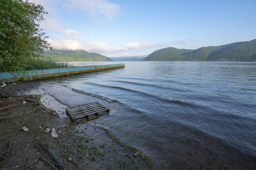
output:
M 256 39 L 256 0 L 31 0 L 54 49 L 147 56 Z

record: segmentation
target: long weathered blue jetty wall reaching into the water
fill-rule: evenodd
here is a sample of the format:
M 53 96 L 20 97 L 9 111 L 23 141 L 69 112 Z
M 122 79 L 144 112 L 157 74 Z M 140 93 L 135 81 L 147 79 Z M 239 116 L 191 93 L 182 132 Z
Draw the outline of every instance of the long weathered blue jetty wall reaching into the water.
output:
M 113 68 L 125 67 L 124 64 L 110 64 L 110 65 L 89 65 L 82 67 L 65 67 L 53 68 L 44 70 L 26 70 L 15 72 L 0 72 L 0 82 L 12 80 L 40 80 L 53 77 L 61 77 L 65 75 L 74 75 L 84 72 L 93 72 L 98 70 L 108 70 Z

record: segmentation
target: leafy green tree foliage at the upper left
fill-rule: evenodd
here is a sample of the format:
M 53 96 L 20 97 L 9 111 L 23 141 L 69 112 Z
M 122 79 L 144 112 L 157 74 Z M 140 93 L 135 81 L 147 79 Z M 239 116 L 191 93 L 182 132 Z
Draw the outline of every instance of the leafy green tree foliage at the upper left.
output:
M 44 7 L 28 0 L 0 0 L 0 71 L 18 71 L 51 49 L 39 24 Z

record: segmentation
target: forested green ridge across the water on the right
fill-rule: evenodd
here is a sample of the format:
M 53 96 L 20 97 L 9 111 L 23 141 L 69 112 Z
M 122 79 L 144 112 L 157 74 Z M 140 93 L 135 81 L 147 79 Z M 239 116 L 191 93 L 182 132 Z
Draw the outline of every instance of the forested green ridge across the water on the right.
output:
M 256 39 L 197 50 L 167 47 L 152 52 L 144 61 L 256 61 Z

